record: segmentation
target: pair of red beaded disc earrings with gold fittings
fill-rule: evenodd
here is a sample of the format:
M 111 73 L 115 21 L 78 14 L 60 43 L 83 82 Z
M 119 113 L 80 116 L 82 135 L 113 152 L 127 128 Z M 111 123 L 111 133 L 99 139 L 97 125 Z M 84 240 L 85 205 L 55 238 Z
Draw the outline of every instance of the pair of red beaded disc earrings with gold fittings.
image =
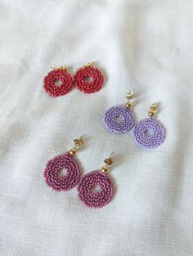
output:
M 44 90 L 52 97 L 65 95 L 74 84 L 80 92 L 97 92 L 101 89 L 104 81 L 101 71 L 94 68 L 91 62 L 77 70 L 73 78 L 63 65 L 52 69 L 43 80 Z

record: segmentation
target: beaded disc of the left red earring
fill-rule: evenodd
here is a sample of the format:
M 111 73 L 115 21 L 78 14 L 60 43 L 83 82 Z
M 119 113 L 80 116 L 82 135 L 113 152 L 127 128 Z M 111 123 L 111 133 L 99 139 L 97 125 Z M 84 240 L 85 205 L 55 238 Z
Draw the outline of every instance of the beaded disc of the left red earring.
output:
M 60 80 L 61 84 L 56 85 L 56 80 Z M 44 90 L 52 97 L 65 95 L 73 87 L 73 79 L 64 69 L 52 70 L 43 80 Z

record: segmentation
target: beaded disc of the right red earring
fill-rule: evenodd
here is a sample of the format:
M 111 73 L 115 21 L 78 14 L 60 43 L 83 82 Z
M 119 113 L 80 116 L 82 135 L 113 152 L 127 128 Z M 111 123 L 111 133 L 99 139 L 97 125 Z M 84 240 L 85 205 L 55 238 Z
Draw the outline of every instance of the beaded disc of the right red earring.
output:
M 87 79 L 91 81 L 87 81 Z M 74 83 L 79 91 L 84 93 L 98 92 L 101 89 L 103 83 L 103 76 L 100 70 L 93 68 L 92 66 L 85 66 L 80 68 L 74 74 Z

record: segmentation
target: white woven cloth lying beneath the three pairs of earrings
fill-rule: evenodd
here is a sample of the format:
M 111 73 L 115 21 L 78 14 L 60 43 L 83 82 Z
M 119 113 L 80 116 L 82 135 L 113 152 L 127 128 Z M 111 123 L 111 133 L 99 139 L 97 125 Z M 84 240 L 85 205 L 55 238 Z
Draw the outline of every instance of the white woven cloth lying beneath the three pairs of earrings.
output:
M 0 255 L 193 255 L 192 21 L 191 0 L 1 0 Z M 43 91 L 50 66 L 74 74 L 88 61 L 105 75 L 100 92 Z M 101 124 L 129 89 L 137 120 L 159 102 L 167 136 L 155 150 Z M 83 173 L 114 151 L 116 191 L 103 209 L 43 179 L 80 135 Z

